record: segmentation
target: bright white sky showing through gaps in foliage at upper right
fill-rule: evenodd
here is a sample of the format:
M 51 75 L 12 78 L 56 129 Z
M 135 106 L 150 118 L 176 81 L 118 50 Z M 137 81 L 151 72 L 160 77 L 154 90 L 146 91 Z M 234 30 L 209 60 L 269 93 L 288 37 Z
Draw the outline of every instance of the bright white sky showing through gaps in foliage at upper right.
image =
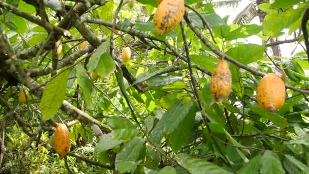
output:
M 218 0 L 216 2 L 218 2 Z M 223 8 L 215 9 L 215 12 L 218 15 L 220 15 L 222 18 L 227 16 L 227 15 L 230 15 L 230 18 L 228 20 L 228 24 L 232 24 L 232 21 L 237 16 L 237 14 L 240 13 L 246 6 L 248 6 L 252 2 L 253 1 L 250 1 L 250 0 L 243 0 L 241 3 L 239 3 L 238 7 L 235 7 L 235 8 L 233 8 L 233 7 L 230 7 L 230 8 L 223 7 Z M 259 24 L 259 19 L 256 17 L 250 24 Z M 286 40 L 286 39 L 293 39 L 293 37 L 287 36 L 287 35 L 280 37 L 280 40 Z M 246 38 L 246 40 L 248 40 L 249 43 L 262 44 L 261 38 L 259 38 L 257 36 L 252 36 L 252 37 Z M 243 40 L 241 40 L 241 41 L 243 41 Z M 282 56 L 291 57 L 291 53 L 295 49 L 296 46 L 297 46 L 296 42 L 280 45 Z M 301 51 L 301 50 L 303 50 L 302 47 L 298 45 L 296 50 L 292 53 L 292 55 L 294 55 L 295 52 L 298 52 L 298 51 Z M 272 55 L 272 53 L 270 53 L 269 55 Z

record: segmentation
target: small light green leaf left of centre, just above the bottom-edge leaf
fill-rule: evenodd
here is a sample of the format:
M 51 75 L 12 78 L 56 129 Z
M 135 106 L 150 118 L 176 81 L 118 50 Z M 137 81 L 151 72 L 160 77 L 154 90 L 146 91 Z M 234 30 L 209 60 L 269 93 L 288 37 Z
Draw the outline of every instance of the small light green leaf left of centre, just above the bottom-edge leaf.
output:
M 136 126 L 122 117 L 109 118 L 107 125 L 112 128 L 115 139 L 128 139 L 137 133 Z

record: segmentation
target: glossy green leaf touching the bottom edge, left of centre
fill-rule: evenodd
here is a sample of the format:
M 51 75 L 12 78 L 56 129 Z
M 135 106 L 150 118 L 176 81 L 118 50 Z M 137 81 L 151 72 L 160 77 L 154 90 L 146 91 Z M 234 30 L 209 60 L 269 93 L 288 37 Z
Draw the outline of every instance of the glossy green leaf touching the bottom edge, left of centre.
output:
M 136 168 L 139 160 L 144 159 L 146 146 L 144 140 L 136 137 L 129 141 L 116 155 L 115 168 L 120 173 L 125 173 Z

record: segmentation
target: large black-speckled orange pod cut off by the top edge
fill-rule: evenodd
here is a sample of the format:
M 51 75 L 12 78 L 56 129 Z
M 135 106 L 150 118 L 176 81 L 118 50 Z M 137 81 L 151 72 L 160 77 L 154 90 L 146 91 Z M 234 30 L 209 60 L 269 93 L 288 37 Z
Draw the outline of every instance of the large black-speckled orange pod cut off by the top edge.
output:
M 163 0 L 153 17 L 154 28 L 158 35 L 173 31 L 183 15 L 184 0 Z

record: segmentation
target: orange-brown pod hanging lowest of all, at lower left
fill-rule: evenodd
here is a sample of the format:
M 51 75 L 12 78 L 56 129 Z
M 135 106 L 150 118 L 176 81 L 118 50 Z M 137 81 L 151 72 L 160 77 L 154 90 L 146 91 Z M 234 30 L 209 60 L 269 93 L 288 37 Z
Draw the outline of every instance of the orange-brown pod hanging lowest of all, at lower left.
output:
M 67 155 L 70 152 L 70 132 L 65 124 L 58 124 L 56 127 L 54 148 L 61 157 Z

